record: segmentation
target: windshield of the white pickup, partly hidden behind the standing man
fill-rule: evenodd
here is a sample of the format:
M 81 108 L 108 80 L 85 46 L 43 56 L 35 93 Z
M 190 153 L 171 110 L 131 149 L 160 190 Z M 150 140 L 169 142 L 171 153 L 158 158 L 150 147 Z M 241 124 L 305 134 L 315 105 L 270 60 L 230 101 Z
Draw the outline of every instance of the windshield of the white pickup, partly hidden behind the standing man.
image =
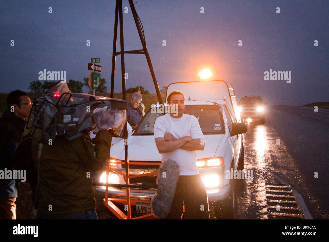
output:
M 186 105 L 184 113 L 194 115 L 198 119 L 203 134 L 225 132 L 218 105 Z M 154 135 L 153 126 L 158 117 L 159 114 L 151 113 L 150 109 L 133 135 Z

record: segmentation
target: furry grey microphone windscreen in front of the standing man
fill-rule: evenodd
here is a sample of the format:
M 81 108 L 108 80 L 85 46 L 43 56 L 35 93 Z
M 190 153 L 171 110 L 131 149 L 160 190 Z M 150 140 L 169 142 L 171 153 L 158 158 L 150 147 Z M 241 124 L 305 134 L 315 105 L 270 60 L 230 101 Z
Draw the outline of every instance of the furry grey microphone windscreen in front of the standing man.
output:
M 159 168 L 157 193 L 151 201 L 152 213 L 157 218 L 165 218 L 169 214 L 179 176 L 178 168 L 176 161 L 171 159 L 164 161 Z

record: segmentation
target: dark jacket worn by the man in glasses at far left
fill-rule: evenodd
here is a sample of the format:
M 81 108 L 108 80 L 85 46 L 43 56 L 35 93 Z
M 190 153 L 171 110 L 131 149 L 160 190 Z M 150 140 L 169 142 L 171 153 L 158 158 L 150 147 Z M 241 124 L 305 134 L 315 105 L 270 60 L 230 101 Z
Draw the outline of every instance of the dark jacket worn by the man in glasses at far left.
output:
M 25 124 L 24 120 L 8 109 L 0 118 L 0 170 L 4 171 L 10 166 L 14 150 L 22 141 Z M 1 179 L 0 196 L 17 197 L 15 180 Z

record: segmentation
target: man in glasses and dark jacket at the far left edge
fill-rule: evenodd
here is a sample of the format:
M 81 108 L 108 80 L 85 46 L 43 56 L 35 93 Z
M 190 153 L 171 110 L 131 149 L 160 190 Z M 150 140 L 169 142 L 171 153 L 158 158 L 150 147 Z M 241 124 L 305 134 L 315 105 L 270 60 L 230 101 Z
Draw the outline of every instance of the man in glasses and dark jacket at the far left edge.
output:
M 0 118 L 0 170 L 10 167 L 15 148 L 23 139 L 26 119 L 32 102 L 27 93 L 15 90 L 8 94 L 7 110 Z M 0 179 L 0 219 L 16 219 L 17 188 L 15 180 Z

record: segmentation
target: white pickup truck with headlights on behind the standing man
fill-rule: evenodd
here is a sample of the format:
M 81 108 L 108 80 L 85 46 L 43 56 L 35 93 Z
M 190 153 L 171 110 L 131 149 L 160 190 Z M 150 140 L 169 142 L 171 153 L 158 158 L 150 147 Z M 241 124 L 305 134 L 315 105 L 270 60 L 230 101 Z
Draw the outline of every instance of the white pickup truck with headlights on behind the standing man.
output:
M 198 119 L 205 137 L 204 150 L 197 151 L 197 165 L 206 185 L 208 201 L 231 201 L 225 209 L 232 218 L 236 209 L 236 185 L 234 179 L 227 179 L 225 174 L 227 171 L 231 174 L 231 168 L 243 170 L 243 133 L 247 132 L 246 124 L 240 120 L 234 89 L 222 80 L 172 83 L 168 86 L 166 99 L 173 90 L 184 94 L 184 113 Z M 129 162 L 161 162 L 153 133 L 154 122 L 161 114 L 151 110 L 152 108 L 143 117 L 135 132 L 128 136 Z M 114 162 L 112 165 L 115 169 L 125 173 L 125 165 L 115 164 L 125 160 L 124 140 L 111 147 L 110 155 L 110 162 Z M 158 168 L 159 165 L 129 165 L 129 175 L 151 173 Z M 155 183 L 156 176 L 141 176 L 129 180 L 131 184 Z M 103 172 L 100 181 L 106 183 L 106 172 Z M 126 184 L 126 181 L 123 175 L 110 172 L 108 183 Z M 96 192 L 104 195 L 105 189 L 105 186 L 98 186 Z M 131 199 L 140 201 L 132 202 L 132 205 L 136 205 L 137 213 L 150 212 L 150 207 L 145 206 L 145 202 L 149 204 L 155 193 L 156 189 L 130 189 Z M 126 198 L 126 189 L 108 187 L 108 196 Z M 211 205 L 209 207 L 212 209 Z

